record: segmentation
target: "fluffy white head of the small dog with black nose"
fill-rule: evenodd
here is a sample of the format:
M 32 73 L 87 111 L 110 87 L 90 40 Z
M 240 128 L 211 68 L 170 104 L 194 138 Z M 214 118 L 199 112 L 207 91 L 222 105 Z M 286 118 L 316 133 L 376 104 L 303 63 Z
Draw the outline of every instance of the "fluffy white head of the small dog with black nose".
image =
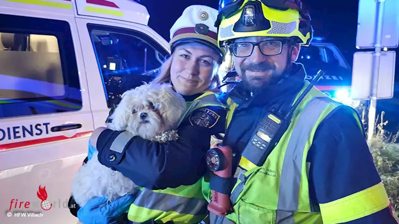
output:
M 109 127 L 150 139 L 172 128 L 184 110 L 186 101 L 170 84 L 143 84 L 122 94 Z

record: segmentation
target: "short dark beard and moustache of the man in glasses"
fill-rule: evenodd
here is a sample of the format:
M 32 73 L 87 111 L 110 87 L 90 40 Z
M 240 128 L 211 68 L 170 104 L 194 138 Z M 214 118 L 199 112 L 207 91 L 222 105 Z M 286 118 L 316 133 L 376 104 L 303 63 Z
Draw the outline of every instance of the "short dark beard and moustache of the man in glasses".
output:
M 243 64 L 240 67 L 241 70 L 241 80 L 248 90 L 251 92 L 257 92 L 257 90 L 268 86 L 269 84 L 277 82 L 281 74 L 278 74 L 276 71 L 276 66 L 274 64 L 269 63 L 259 63 L 259 64 Z M 258 71 L 265 72 L 266 74 L 255 76 L 248 76 L 247 71 Z

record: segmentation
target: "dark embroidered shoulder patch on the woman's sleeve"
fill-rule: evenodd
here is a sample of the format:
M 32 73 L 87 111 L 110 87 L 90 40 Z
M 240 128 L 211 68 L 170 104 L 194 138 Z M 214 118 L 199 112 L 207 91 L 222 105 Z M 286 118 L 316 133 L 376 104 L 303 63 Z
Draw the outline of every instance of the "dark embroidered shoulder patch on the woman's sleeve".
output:
M 220 115 L 208 108 L 199 108 L 190 115 L 190 124 L 204 128 L 212 128 L 219 120 Z

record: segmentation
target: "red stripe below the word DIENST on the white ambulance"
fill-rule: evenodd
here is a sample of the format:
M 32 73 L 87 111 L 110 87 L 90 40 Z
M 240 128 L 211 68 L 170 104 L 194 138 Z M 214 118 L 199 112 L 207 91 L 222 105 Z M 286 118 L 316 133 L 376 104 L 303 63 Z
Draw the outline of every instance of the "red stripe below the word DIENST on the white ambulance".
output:
M 20 142 L 2 144 L 2 145 L 0 145 L 0 151 L 7 150 L 7 149 L 15 149 L 15 148 L 19 148 L 19 147 L 38 145 L 38 144 L 43 144 L 43 143 L 49 143 L 49 142 L 54 142 L 54 141 L 62 141 L 62 140 L 73 139 L 73 138 L 89 137 L 91 135 L 91 132 L 93 132 L 93 131 L 80 132 L 80 133 L 77 133 L 74 136 L 69 137 L 69 138 L 65 137 L 65 136 L 53 136 L 53 137 L 49 137 L 49 138 L 41 138 L 41 139 L 35 139 L 35 140 L 29 140 L 29 141 L 20 141 Z

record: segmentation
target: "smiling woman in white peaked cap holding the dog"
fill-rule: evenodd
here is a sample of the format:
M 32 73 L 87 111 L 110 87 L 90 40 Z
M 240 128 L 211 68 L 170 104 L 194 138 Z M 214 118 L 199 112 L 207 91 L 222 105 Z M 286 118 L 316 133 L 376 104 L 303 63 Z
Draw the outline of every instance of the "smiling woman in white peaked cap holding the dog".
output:
M 105 128 L 93 132 L 90 141 L 99 151 L 100 163 L 142 189 L 134 198 L 126 195 L 105 206 L 105 198 L 93 198 L 77 212 L 83 223 L 110 223 L 127 209 L 133 223 L 198 223 L 207 215 L 201 193 L 201 177 L 207 170 L 204 156 L 211 136 L 224 132 L 226 116 L 226 107 L 214 94 L 224 57 L 217 47 L 216 17 L 217 10 L 208 6 L 184 10 L 170 29 L 172 56 L 153 81 L 172 83 L 188 102 L 178 141 L 130 139 Z

